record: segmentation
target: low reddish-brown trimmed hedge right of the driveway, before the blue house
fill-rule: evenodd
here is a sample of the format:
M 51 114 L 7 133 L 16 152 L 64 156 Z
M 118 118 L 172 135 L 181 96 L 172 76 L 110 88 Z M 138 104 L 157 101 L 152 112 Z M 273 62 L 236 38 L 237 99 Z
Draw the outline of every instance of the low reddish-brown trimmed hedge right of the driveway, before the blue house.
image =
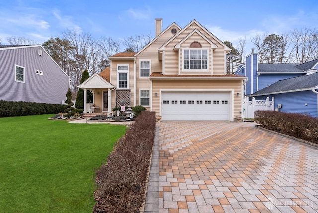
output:
M 255 121 L 263 128 L 318 143 L 318 119 L 303 114 L 255 111 Z

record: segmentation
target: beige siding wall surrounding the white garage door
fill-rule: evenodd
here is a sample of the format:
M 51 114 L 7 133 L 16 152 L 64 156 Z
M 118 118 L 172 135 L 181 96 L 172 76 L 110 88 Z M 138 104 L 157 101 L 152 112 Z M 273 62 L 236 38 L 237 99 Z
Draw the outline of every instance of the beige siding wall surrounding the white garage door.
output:
M 152 110 L 156 112 L 156 116 L 160 113 L 160 89 L 234 89 L 234 94 L 241 94 L 241 80 L 153 80 Z M 154 96 L 155 93 L 158 96 Z M 241 96 L 233 96 L 233 115 L 241 116 Z

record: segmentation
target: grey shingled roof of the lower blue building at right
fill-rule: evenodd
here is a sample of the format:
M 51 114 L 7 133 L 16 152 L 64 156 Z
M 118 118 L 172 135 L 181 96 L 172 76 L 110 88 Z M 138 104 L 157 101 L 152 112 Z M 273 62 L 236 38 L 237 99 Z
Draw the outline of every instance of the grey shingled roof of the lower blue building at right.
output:
M 318 85 L 318 73 L 284 79 L 271 84 L 249 96 L 263 96 L 277 93 L 312 90 Z

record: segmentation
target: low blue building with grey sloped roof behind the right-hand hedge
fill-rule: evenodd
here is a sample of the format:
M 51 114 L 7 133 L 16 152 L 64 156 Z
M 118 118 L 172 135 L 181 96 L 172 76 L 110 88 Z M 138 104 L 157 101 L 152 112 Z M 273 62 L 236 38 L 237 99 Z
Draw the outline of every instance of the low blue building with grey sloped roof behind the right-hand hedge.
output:
M 307 75 L 280 80 L 251 94 L 250 97 L 257 100 L 274 97 L 275 110 L 318 117 L 317 69 L 309 70 Z

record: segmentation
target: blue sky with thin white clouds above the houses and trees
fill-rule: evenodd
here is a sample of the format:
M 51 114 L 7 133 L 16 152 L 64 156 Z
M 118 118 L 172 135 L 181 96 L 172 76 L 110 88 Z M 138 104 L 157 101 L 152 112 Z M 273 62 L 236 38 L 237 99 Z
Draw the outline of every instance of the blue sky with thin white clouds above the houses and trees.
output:
M 11 36 L 39 43 L 62 37 L 66 29 L 122 40 L 162 28 L 180 27 L 193 19 L 220 40 L 250 38 L 310 27 L 318 30 L 317 0 L 0 0 L 0 38 Z

